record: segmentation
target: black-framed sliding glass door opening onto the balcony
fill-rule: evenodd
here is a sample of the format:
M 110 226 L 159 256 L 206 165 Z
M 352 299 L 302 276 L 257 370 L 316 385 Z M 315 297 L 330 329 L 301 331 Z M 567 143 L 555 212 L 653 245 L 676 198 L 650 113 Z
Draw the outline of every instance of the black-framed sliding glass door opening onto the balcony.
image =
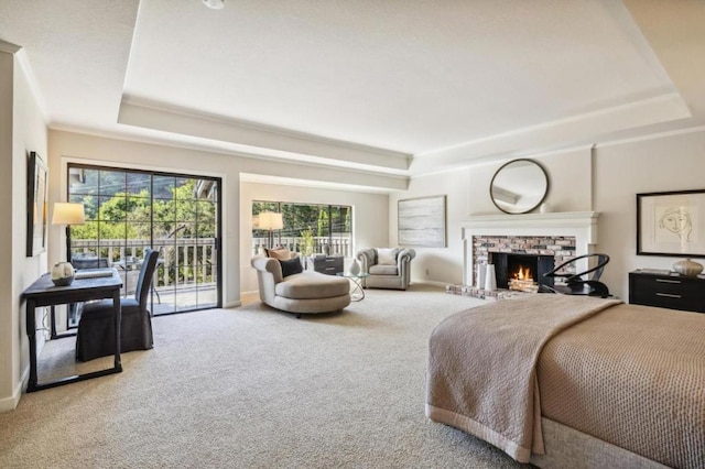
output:
M 221 305 L 220 181 L 202 176 L 68 166 L 68 199 L 86 223 L 70 227 L 76 266 L 113 266 L 134 294 L 147 248 L 160 251 L 152 314 Z

